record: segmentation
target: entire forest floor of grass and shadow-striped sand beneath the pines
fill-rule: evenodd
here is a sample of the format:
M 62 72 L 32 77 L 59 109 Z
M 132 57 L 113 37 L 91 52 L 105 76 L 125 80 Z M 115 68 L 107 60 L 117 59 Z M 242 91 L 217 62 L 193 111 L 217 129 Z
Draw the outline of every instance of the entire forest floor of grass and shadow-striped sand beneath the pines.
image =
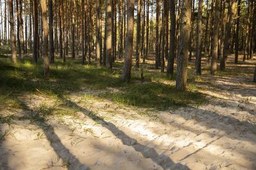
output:
M 51 78 L 31 57 L 0 56 L 0 169 L 256 169 L 255 60 L 202 76 L 188 91 L 154 69 L 132 83 L 113 71 L 57 59 Z M 240 59 L 241 60 L 241 59 Z

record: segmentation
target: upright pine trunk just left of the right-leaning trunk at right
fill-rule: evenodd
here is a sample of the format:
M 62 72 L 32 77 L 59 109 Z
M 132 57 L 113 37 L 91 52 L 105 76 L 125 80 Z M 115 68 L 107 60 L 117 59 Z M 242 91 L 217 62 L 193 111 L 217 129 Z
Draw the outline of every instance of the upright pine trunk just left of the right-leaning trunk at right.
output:
M 219 30 L 220 30 L 220 0 L 216 0 L 213 32 L 212 32 L 212 43 L 211 43 L 212 44 L 211 74 L 215 74 L 217 70 Z

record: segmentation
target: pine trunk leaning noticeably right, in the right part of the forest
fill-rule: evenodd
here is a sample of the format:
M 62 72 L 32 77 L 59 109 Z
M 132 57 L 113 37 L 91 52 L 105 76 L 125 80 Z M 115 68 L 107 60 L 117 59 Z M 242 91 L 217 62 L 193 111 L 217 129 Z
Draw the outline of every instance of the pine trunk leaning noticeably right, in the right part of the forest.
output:
M 228 18 L 227 18 L 227 24 L 226 24 L 226 28 L 225 28 L 223 57 L 221 58 L 221 63 L 220 63 L 221 70 L 224 70 L 226 67 L 226 60 L 228 57 L 229 46 L 230 46 L 230 41 L 231 41 L 230 34 L 231 34 L 232 25 L 233 25 L 235 7 L 236 7 L 235 0 L 230 0 L 230 2 L 228 4 Z

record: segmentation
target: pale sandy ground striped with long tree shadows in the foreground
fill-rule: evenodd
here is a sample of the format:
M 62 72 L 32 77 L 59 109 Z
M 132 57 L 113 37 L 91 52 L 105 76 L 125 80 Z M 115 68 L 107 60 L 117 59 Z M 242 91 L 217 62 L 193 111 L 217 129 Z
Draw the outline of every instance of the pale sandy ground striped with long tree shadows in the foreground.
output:
M 210 103 L 157 117 L 72 94 L 77 117 L 0 124 L 0 169 L 256 169 L 256 85 L 248 76 L 204 78 Z

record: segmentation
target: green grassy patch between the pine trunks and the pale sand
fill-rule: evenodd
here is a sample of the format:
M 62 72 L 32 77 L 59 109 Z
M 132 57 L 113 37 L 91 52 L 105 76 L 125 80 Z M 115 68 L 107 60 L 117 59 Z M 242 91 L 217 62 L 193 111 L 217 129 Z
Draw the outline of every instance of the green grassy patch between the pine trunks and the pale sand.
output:
M 133 68 L 132 83 L 122 82 L 122 63 L 116 62 L 113 71 L 104 67 L 81 65 L 81 59 L 69 60 L 65 63 L 61 59 L 51 65 L 51 77 L 43 76 L 42 59 L 37 66 L 33 64 L 31 57 L 26 57 L 23 62 L 12 64 L 10 58 L 0 57 L 0 109 L 24 108 L 17 97 L 24 94 L 38 94 L 38 90 L 49 99 L 60 100 L 63 96 L 74 92 L 94 92 L 86 94 L 86 98 L 109 99 L 118 104 L 164 110 L 170 107 L 198 106 L 207 102 L 205 96 L 198 92 L 196 81 L 202 81 L 189 71 L 189 86 L 187 92 L 179 92 L 175 89 L 175 76 L 166 77 L 164 73 L 145 66 L 143 83 L 140 81 L 140 70 Z M 146 68 L 149 69 L 146 69 Z M 56 115 L 72 115 L 77 110 L 68 103 L 57 103 L 54 108 L 42 106 L 38 108 L 40 118 L 52 113 Z M 36 117 L 35 117 L 36 119 Z M 44 121 L 44 120 L 40 120 Z

